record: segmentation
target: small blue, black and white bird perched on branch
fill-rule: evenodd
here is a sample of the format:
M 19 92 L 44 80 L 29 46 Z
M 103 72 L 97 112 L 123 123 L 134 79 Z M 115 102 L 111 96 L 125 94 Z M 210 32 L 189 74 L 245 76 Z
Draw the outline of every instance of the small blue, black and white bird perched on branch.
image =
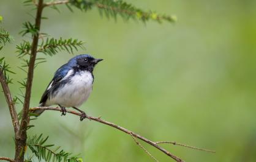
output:
M 69 62 L 62 65 L 54 74 L 53 79 L 43 93 L 39 107 L 50 107 L 59 105 L 61 115 L 66 115 L 66 107 L 72 107 L 80 111 L 80 121 L 87 117 L 87 114 L 78 109 L 92 91 L 94 82 L 93 70 L 102 58 L 94 58 L 89 54 L 76 55 Z M 44 110 L 35 110 L 39 116 Z

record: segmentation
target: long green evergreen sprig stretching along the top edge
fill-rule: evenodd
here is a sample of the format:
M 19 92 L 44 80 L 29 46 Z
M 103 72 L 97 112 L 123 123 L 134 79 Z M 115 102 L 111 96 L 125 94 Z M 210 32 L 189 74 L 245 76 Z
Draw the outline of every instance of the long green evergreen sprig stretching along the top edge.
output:
M 146 22 L 149 19 L 157 21 L 158 23 L 162 23 L 162 21 L 176 21 L 175 16 L 161 15 L 152 12 L 151 10 L 146 12 L 145 10 L 138 9 L 134 5 L 121 0 L 69 0 L 69 4 L 83 11 L 90 10 L 92 7 L 97 7 L 100 15 L 105 15 L 107 18 L 111 17 L 116 19 L 116 16 L 119 15 L 125 20 L 132 18 L 143 22 Z M 69 4 L 67 4 L 67 7 L 72 10 Z

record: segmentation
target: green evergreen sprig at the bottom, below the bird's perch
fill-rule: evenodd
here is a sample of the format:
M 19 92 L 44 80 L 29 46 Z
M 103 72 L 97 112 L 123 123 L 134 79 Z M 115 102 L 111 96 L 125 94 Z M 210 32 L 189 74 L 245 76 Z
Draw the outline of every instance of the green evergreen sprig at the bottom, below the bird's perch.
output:
M 39 136 L 32 136 L 28 138 L 27 146 L 36 155 L 39 161 L 69 161 L 69 162 L 82 162 L 83 160 L 78 157 L 78 155 L 72 155 L 72 153 L 61 150 L 60 147 L 53 149 L 54 144 L 45 144 L 48 136 L 46 138 Z

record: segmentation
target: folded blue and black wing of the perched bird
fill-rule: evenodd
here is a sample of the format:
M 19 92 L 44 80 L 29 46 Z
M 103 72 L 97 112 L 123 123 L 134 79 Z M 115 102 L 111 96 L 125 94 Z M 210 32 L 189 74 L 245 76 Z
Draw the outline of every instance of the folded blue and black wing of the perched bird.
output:
M 45 92 L 43 93 L 40 99 L 40 102 L 39 102 L 40 106 L 42 107 L 45 106 L 45 102 L 47 101 L 50 92 L 55 89 L 55 87 L 58 85 L 60 80 L 62 80 L 65 76 L 67 76 L 67 73 L 70 71 L 70 69 L 72 68 L 70 66 L 67 66 L 67 64 L 65 64 L 65 65 L 62 65 L 61 68 L 59 68 L 55 72 L 55 76 L 47 86 L 47 89 L 45 90 Z

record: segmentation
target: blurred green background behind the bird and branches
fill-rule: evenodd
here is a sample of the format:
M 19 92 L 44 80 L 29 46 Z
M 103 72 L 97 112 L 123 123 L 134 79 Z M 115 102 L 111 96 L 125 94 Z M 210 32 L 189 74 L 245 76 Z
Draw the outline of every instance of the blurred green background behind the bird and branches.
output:
M 146 25 L 101 18 L 98 11 L 61 14 L 45 9 L 42 32 L 86 41 L 86 51 L 104 58 L 94 89 L 82 109 L 153 141 L 177 141 L 216 150 L 206 153 L 164 147 L 185 161 L 256 161 L 256 1 L 128 1 L 142 9 L 175 14 L 175 24 Z M 2 26 L 15 38 L 1 57 L 17 72 L 15 44 L 21 24 L 34 15 L 22 1 L 1 0 Z M 36 107 L 53 73 L 73 55 L 61 52 L 35 71 L 31 107 Z M 18 94 L 18 84 L 10 85 Z M 20 105 L 18 105 L 20 107 Z M 133 139 L 111 127 L 47 111 L 29 135 L 50 135 L 49 143 L 81 153 L 84 161 L 152 161 Z M 0 155 L 13 157 L 13 129 L 0 94 Z M 159 161 L 172 161 L 143 143 Z

